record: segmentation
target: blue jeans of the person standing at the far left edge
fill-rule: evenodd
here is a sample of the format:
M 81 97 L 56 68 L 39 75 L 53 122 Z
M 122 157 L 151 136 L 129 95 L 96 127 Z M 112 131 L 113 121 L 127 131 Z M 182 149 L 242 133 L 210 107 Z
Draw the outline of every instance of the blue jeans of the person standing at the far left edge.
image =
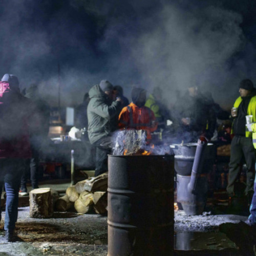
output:
M 3 184 L 6 191 L 5 230 L 13 230 L 18 217 L 18 191 L 25 160 L 19 158 L 0 159 L 0 195 Z M 0 210 L 0 215 L 1 215 Z

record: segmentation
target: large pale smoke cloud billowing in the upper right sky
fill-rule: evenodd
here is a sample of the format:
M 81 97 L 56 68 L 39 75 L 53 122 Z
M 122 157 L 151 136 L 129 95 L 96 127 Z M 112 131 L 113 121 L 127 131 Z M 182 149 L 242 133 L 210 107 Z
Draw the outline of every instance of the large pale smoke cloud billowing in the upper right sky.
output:
M 139 85 L 148 91 L 160 86 L 169 102 L 177 89 L 193 84 L 211 91 L 219 103 L 227 98 L 232 103 L 239 81 L 248 75 L 243 61 L 229 66 L 245 46 L 241 22 L 241 15 L 214 6 L 185 10 L 168 4 L 140 20 L 142 33 L 122 36 L 125 28 L 114 24 L 106 39 L 118 38 L 123 61 L 133 63 L 140 74 Z

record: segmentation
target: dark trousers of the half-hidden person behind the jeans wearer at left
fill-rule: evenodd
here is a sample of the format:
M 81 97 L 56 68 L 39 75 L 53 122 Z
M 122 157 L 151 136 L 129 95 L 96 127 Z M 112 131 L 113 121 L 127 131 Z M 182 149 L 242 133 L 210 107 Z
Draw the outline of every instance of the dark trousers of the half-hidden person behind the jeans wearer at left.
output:
M 30 175 L 32 188 L 38 187 L 38 166 L 39 166 L 39 155 L 38 152 L 32 148 L 32 158 L 26 159 L 24 172 L 22 174 L 22 181 L 20 189 L 27 189 L 27 180 Z

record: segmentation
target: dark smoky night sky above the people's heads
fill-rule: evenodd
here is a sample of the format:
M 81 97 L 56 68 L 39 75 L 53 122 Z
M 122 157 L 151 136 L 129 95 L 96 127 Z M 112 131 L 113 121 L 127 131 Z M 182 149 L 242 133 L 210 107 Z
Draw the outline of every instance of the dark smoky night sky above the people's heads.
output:
M 57 103 L 80 103 L 101 79 L 131 87 L 156 85 L 171 103 L 198 84 L 230 106 L 241 79 L 255 76 L 256 3 L 239 0 L 0 2 L 0 75 L 20 87 L 39 84 Z

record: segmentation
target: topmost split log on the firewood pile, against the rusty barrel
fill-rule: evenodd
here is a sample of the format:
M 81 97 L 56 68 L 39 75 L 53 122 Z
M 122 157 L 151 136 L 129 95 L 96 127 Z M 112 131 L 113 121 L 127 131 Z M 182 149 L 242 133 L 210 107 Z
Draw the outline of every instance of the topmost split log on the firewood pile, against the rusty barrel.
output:
M 94 193 L 95 191 L 106 191 L 108 189 L 108 173 L 87 180 L 79 181 L 75 185 L 78 194 L 84 191 Z

